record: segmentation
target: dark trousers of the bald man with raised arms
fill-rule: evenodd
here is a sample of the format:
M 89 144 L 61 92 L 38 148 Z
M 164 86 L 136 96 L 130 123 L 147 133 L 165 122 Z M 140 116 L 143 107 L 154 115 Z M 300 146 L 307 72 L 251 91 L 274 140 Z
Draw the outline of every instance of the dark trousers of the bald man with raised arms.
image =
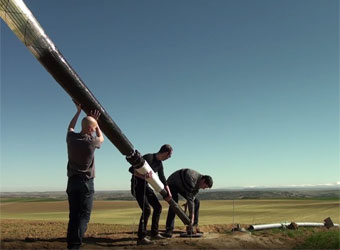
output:
M 82 244 L 93 206 L 94 182 L 78 176 L 68 179 L 67 195 L 69 222 L 67 228 L 67 248 L 79 249 Z

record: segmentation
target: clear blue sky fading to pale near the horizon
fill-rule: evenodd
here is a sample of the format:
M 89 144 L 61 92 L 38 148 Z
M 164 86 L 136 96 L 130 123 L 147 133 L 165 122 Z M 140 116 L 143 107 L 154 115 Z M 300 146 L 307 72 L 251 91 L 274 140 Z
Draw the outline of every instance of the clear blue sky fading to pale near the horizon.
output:
M 166 176 L 188 167 L 214 188 L 339 184 L 339 1 L 26 5 L 136 149 L 173 146 Z M 1 20 L 2 191 L 65 190 L 75 112 Z M 96 165 L 96 190 L 129 189 L 108 139 Z

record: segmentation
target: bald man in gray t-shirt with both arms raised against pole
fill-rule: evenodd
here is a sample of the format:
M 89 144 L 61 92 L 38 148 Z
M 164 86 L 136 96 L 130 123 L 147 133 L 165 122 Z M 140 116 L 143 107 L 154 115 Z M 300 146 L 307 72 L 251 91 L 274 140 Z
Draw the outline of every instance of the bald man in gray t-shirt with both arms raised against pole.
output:
M 69 202 L 69 223 L 67 228 L 67 248 L 79 249 L 82 244 L 87 224 L 90 221 L 95 177 L 94 151 L 104 141 L 98 126 L 99 111 L 91 111 L 81 123 L 81 131 L 76 133 L 81 106 L 72 118 L 67 131 L 67 195 Z M 95 136 L 93 135 L 95 134 Z

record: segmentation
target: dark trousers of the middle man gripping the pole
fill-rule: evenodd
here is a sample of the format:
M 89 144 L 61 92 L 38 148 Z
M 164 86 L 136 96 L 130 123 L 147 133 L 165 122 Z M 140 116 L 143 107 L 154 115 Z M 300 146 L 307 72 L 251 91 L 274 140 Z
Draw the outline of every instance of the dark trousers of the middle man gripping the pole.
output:
M 138 238 L 142 239 L 146 236 L 146 226 L 151 214 L 150 205 L 153 208 L 151 235 L 158 234 L 158 224 L 162 213 L 162 205 L 160 204 L 157 196 L 145 181 L 137 181 L 134 191 L 135 194 L 133 195 L 136 197 L 138 205 L 142 209 L 142 215 L 138 226 Z

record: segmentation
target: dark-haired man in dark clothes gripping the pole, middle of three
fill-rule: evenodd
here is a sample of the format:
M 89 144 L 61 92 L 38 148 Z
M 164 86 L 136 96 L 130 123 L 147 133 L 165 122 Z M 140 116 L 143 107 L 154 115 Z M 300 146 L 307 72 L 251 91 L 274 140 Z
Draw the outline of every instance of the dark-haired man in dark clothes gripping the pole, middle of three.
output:
M 166 182 L 166 178 L 164 176 L 164 169 L 162 161 L 165 161 L 171 157 L 172 147 L 169 144 L 163 145 L 157 153 L 154 154 L 146 154 L 143 158 L 148 162 L 150 167 L 155 173 L 158 173 L 158 177 L 160 181 L 164 184 L 166 190 L 168 190 L 169 195 L 169 187 Z M 147 245 L 152 244 L 153 242 L 146 237 L 146 226 L 148 223 L 149 216 L 151 214 L 150 205 L 153 208 L 152 214 L 152 224 L 151 224 L 151 238 L 152 239 L 164 239 L 158 233 L 158 224 L 159 218 L 162 212 L 162 205 L 158 201 L 158 198 L 154 191 L 151 189 L 146 178 L 149 178 L 148 174 L 146 176 L 139 174 L 133 167 L 130 167 L 129 171 L 132 173 L 131 178 L 131 193 L 138 202 L 139 207 L 142 209 L 142 215 L 139 221 L 138 227 L 138 245 Z M 171 197 L 170 197 L 171 198 Z

